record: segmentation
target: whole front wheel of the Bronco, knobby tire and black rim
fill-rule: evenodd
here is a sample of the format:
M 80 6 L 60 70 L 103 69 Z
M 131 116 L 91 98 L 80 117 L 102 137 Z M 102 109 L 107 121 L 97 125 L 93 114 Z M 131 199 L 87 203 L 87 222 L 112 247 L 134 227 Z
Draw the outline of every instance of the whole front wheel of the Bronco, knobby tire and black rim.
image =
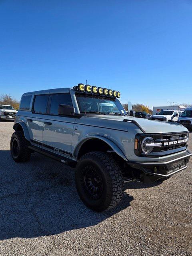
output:
M 75 182 L 84 204 L 96 212 L 113 208 L 123 196 L 124 182 L 120 168 L 104 152 L 90 152 L 80 158 Z

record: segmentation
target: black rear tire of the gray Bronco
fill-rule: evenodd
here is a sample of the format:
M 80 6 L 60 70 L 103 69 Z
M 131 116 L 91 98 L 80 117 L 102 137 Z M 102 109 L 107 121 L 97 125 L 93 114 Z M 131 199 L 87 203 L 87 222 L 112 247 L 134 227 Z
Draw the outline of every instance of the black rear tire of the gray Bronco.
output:
M 18 150 L 15 152 L 15 144 L 18 144 Z M 10 149 L 11 155 L 15 162 L 26 162 L 29 160 L 31 155 L 31 150 L 28 148 L 30 143 L 24 137 L 23 132 L 14 132 L 11 136 Z

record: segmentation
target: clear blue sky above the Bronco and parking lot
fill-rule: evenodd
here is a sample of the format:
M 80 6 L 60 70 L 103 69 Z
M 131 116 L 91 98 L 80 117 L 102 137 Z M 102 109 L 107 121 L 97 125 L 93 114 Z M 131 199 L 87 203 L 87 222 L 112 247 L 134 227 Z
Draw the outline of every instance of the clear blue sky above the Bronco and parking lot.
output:
M 122 103 L 191 104 L 192 1 L 0 0 L 0 94 L 86 79 Z

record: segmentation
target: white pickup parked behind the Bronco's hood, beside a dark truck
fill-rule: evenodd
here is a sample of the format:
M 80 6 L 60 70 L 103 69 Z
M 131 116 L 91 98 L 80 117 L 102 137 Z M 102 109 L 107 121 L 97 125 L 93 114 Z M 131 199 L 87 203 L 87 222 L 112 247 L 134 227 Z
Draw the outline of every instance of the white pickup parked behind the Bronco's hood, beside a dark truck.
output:
M 151 120 L 158 121 L 177 121 L 178 117 L 182 115 L 182 111 L 178 110 L 163 110 L 157 115 L 151 116 Z

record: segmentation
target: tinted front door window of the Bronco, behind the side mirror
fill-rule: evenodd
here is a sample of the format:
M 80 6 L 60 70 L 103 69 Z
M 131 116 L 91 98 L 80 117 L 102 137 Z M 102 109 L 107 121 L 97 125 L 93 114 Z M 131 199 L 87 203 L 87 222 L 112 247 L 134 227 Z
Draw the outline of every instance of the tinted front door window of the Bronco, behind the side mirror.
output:
M 50 115 L 58 115 L 58 106 L 59 104 L 63 105 L 72 105 L 71 95 L 66 94 L 52 94 L 51 106 L 50 106 Z

